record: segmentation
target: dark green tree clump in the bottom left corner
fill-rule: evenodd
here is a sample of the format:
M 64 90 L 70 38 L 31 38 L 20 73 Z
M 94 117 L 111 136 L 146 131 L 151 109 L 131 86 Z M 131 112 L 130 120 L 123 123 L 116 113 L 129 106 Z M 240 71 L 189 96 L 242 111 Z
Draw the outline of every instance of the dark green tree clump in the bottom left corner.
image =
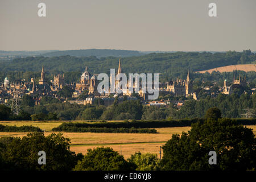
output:
M 5 151 L 1 156 L 10 168 L 3 170 L 71 170 L 81 156 L 70 151 L 69 142 L 61 133 L 47 137 L 43 133 L 30 133 L 22 139 L 9 139 L 2 144 Z M 46 165 L 38 164 L 39 151 L 46 152 Z

